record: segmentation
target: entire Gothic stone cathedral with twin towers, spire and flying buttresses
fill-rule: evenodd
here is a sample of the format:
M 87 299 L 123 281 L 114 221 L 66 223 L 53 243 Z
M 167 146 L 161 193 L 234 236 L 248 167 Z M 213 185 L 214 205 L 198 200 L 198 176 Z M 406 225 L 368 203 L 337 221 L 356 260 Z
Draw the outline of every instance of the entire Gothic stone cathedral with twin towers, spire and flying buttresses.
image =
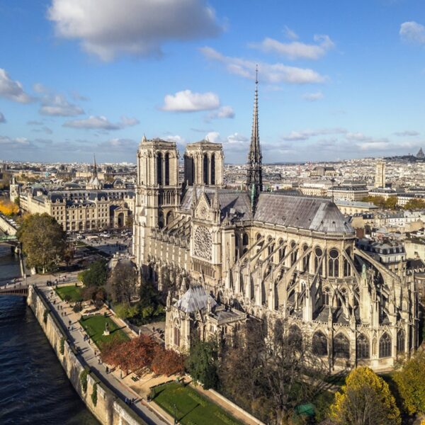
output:
M 331 200 L 262 191 L 257 88 L 244 191 L 225 188 L 220 143 L 188 144 L 179 181 L 176 143 L 140 142 L 133 248 L 168 294 L 166 346 L 280 319 L 334 370 L 391 368 L 418 344 L 413 283 L 356 248 Z

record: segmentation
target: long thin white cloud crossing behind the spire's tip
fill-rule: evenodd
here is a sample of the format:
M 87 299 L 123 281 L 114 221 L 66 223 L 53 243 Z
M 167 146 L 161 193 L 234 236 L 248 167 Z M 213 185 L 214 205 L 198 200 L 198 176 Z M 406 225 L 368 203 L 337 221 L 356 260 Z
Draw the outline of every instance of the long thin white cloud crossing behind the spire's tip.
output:
M 327 77 L 324 77 L 309 68 L 288 67 L 285 64 L 267 64 L 253 62 L 240 57 L 224 56 L 212 47 L 202 47 L 200 52 L 209 60 L 215 60 L 225 65 L 228 72 L 239 75 L 240 77 L 254 79 L 256 65 L 259 66 L 259 77 L 261 81 L 271 84 L 289 83 L 289 84 L 308 84 L 324 83 Z

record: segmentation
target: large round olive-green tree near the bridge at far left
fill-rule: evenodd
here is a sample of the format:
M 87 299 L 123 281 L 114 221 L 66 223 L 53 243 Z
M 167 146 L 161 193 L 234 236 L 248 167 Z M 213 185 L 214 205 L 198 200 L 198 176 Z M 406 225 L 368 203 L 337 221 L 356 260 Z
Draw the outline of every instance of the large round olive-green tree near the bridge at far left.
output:
M 50 215 L 34 214 L 23 220 L 17 237 L 29 267 L 48 269 L 60 263 L 67 247 L 67 234 Z

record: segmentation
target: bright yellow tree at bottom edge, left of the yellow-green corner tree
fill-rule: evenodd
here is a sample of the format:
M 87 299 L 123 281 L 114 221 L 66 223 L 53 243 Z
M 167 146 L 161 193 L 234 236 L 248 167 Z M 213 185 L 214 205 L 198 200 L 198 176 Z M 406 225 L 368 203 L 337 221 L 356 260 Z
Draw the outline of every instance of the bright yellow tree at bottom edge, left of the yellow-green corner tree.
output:
M 401 416 L 387 382 L 368 367 L 353 369 L 336 392 L 331 419 L 341 425 L 399 425 Z

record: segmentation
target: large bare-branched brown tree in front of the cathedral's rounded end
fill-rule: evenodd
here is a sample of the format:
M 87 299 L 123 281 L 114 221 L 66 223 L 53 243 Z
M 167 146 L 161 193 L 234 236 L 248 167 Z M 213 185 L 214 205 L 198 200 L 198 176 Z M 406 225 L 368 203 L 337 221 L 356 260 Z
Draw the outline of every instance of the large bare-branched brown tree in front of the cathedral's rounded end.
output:
M 249 397 L 251 410 L 263 421 L 289 421 L 295 407 L 323 390 L 327 363 L 312 355 L 310 338 L 298 327 L 273 329 L 250 319 L 236 347 L 225 348 L 220 378 L 232 398 Z M 243 399 L 242 399 L 243 402 Z

